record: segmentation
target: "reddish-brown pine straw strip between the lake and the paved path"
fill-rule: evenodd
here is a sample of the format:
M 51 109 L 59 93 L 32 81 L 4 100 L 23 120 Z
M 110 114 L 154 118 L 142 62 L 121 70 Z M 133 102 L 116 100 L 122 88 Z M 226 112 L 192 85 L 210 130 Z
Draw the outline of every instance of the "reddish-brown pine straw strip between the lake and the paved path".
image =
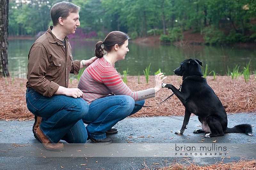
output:
M 138 83 L 137 76 L 127 76 L 127 85 L 133 91 L 144 90 L 154 87 L 155 77 L 150 76 L 148 84 L 144 76 L 140 76 Z M 28 111 L 25 93 L 26 82 L 24 78 L 0 78 L 0 120 L 32 120 L 34 116 Z M 249 82 L 245 83 L 244 77 L 238 77 L 238 80 L 231 79 L 229 76 L 216 76 L 213 80 L 212 76 L 207 77 L 208 84 L 220 98 L 227 113 L 254 113 L 256 112 L 256 80 L 252 75 Z M 171 83 L 179 88 L 182 79 L 179 76 L 167 76 L 164 83 Z M 77 87 L 77 80 L 72 80 L 69 87 Z M 145 106 L 155 106 L 172 94 L 171 90 L 164 88 L 156 93 L 155 98 L 147 99 Z M 184 115 L 185 108 L 180 100 L 173 95 L 164 103 L 155 107 L 143 107 L 138 113 L 132 117 L 143 116 L 180 116 Z

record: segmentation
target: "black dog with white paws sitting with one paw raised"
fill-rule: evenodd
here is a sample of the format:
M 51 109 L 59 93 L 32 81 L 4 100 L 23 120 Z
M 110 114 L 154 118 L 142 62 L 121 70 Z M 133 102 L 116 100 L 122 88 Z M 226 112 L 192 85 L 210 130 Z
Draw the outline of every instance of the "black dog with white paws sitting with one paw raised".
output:
M 197 59 L 187 59 L 180 63 L 180 67 L 173 70 L 177 76 L 182 76 L 180 91 L 171 84 L 162 84 L 162 87 L 171 89 L 185 106 L 183 125 L 175 134 L 183 134 L 187 129 L 191 113 L 198 116 L 202 129 L 193 133 L 207 133 L 204 137 L 223 136 L 224 133 L 245 133 L 252 135 L 252 126 L 249 124 L 236 125 L 228 128 L 228 119 L 225 108 L 220 99 L 207 84 L 200 68 L 202 62 Z

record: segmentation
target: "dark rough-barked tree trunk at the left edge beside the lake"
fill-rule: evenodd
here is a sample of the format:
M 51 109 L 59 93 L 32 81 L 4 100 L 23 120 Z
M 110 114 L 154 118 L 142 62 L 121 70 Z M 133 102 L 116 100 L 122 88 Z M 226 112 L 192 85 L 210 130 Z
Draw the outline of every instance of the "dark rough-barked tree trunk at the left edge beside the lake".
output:
M 8 11 L 9 0 L 0 0 L 0 77 L 9 76 L 8 71 Z

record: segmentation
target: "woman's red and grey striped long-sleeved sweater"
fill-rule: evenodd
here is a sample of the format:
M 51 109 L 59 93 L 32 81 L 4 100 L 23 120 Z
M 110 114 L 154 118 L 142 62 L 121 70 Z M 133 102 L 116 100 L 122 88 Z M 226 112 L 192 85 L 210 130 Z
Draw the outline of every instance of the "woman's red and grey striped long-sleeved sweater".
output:
M 122 80 L 115 66 L 104 58 L 99 58 L 90 64 L 83 72 L 78 82 L 78 88 L 84 92 L 83 99 L 90 104 L 92 101 L 107 97 L 108 94 L 128 95 L 135 101 L 155 97 L 155 89 L 149 88 L 133 92 Z

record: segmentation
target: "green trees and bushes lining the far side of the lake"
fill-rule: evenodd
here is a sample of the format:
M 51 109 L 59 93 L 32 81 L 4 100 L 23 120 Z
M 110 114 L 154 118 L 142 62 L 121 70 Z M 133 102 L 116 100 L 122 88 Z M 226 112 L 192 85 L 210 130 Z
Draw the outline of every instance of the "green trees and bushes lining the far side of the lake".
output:
M 60 1 L 10 0 L 9 35 L 34 36 L 46 31 L 52 24 L 50 9 Z M 162 42 L 172 43 L 183 39 L 181 31 L 185 29 L 204 33 L 205 42 L 211 45 L 256 41 L 254 1 L 72 0 L 72 3 L 81 7 L 79 28 L 97 32 L 99 37 L 120 30 L 129 33 L 132 39 L 160 34 Z M 230 30 L 227 39 L 222 29 Z

